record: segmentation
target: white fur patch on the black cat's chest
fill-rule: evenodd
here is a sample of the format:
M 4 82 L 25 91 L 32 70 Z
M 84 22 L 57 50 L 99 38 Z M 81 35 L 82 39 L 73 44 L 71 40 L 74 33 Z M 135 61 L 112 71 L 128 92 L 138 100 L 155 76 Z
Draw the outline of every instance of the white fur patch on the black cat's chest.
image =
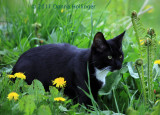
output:
M 95 76 L 99 81 L 101 81 L 103 83 L 102 87 L 106 83 L 105 78 L 106 78 L 108 72 L 109 72 L 109 70 L 107 70 L 107 69 L 100 70 L 100 69 L 95 68 Z

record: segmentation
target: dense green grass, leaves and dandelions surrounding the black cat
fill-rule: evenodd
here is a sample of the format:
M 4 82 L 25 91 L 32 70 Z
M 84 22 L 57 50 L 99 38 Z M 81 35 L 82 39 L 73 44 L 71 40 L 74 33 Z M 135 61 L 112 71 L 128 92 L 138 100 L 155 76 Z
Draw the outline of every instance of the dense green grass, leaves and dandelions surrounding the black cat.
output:
M 160 115 L 159 4 L 158 0 L 0 0 L 0 114 Z M 65 85 L 45 92 L 38 80 L 27 85 L 22 73 L 9 76 L 19 56 L 30 48 L 63 42 L 89 48 L 96 32 L 111 39 L 124 30 L 123 68 L 107 75 L 97 103 L 86 94 L 92 99 L 91 109 L 63 95 Z

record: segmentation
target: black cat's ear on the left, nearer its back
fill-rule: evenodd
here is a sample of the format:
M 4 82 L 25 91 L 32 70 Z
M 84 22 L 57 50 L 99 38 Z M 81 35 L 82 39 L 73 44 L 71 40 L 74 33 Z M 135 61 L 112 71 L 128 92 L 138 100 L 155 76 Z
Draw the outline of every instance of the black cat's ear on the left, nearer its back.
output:
M 107 43 L 103 36 L 103 33 L 97 32 L 96 35 L 94 36 L 92 48 L 94 48 L 99 52 L 103 52 L 104 49 L 106 49 L 106 47 L 107 47 Z

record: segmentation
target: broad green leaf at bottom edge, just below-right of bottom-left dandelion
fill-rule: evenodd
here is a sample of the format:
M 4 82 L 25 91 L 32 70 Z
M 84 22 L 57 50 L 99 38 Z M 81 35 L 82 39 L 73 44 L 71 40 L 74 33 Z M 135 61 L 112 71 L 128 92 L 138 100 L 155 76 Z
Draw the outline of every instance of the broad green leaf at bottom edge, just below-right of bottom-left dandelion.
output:
M 34 95 L 25 95 L 19 100 L 19 110 L 23 111 L 25 115 L 33 114 L 36 109 L 34 98 Z

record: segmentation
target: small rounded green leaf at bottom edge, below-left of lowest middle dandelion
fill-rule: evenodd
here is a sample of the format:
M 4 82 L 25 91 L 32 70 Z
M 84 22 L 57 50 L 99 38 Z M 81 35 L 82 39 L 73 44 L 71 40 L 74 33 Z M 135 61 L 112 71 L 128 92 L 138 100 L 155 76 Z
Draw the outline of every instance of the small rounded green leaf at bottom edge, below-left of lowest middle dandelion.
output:
M 38 108 L 38 115 L 52 115 L 52 112 L 48 105 L 41 105 Z

